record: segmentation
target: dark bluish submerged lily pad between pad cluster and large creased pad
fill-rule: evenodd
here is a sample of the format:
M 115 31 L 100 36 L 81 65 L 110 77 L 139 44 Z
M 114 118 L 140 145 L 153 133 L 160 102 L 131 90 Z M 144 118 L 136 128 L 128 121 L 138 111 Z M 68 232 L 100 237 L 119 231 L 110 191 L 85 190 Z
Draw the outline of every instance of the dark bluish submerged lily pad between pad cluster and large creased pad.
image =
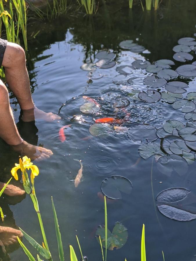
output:
M 171 176 L 173 171 L 182 176 L 187 172 L 188 164 L 183 157 L 176 154 L 171 154 L 159 158 L 157 162 L 157 169 L 168 177 Z

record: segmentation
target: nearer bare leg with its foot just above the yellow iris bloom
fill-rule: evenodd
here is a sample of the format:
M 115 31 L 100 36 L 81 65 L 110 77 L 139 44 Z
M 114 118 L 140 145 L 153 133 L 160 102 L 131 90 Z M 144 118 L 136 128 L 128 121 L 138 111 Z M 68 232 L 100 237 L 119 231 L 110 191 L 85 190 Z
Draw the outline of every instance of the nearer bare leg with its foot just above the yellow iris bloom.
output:
M 9 104 L 9 95 L 6 86 L 0 80 L 0 137 L 21 155 L 30 157 L 31 160 L 42 160 L 53 153 L 42 147 L 31 145 L 20 137 L 14 122 L 14 117 Z

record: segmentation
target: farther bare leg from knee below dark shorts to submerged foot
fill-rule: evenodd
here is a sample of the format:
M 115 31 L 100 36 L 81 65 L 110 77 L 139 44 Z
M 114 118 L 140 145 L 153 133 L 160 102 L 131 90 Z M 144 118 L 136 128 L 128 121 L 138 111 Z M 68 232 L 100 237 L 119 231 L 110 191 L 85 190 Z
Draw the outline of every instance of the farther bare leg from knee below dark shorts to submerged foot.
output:
M 22 120 L 24 122 L 30 122 L 38 118 L 46 121 L 61 119 L 61 117 L 56 114 L 45 113 L 34 106 L 30 93 L 25 52 L 21 46 L 8 42 L 3 56 L 2 66 L 5 68 L 8 86 L 16 96 L 23 111 Z

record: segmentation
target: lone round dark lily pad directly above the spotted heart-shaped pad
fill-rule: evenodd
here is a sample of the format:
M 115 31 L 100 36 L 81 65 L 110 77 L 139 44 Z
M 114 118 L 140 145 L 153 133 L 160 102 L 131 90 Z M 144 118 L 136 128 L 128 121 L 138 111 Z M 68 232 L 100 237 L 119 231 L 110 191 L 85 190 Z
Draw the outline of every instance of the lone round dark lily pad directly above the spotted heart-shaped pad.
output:
M 130 194 L 132 183 L 122 176 L 107 177 L 101 183 L 101 191 L 106 197 L 118 200 L 122 198 L 121 192 Z

